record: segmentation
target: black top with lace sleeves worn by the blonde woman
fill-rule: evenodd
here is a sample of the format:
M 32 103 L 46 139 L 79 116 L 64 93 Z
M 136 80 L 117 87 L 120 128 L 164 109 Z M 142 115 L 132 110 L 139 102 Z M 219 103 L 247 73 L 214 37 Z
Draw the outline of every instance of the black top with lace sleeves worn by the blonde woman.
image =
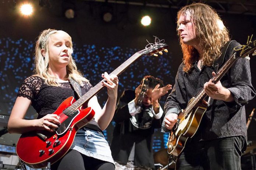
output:
M 30 76 L 24 80 L 18 91 L 18 96 L 26 97 L 32 101 L 32 106 L 38 113 L 38 119 L 47 114 L 51 114 L 57 110 L 58 106 L 70 96 L 75 97 L 75 92 L 69 82 L 60 83 L 61 86 L 49 86 L 45 80 L 38 76 Z M 81 87 L 82 95 L 84 95 L 92 85 L 84 82 Z M 96 121 L 90 121 L 86 126 L 99 125 Z

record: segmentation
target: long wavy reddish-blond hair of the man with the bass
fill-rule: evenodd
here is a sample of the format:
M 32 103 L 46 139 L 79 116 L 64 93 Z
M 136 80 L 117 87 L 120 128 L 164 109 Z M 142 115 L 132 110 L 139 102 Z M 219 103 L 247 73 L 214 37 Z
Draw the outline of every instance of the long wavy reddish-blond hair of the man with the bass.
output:
M 222 23 L 217 12 L 209 5 L 202 3 L 193 3 L 182 7 L 178 11 L 177 21 L 182 15 L 186 15 L 186 11 L 191 13 L 191 21 L 195 25 L 196 38 L 199 40 L 199 45 L 203 50 L 201 59 L 205 66 L 211 66 L 215 58 L 221 55 L 220 49 L 230 40 L 227 28 Z M 177 22 L 177 32 L 180 39 L 180 44 L 183 52 L 183 70 L 188 73 L 193 67 L 192 62 L 199 59 L 198 51 L 191 45 L 186 45 L 180 38 L 178 31 L 179 23 Z

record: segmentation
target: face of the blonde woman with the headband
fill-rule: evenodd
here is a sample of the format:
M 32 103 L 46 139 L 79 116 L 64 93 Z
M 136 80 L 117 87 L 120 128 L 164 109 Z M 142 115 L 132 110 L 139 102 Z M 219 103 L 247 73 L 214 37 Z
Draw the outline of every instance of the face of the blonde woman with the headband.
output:
M 48 41 L 49 66 L 66 67 L 72 54 L 70 36 L 64 31 L 58 31 Z

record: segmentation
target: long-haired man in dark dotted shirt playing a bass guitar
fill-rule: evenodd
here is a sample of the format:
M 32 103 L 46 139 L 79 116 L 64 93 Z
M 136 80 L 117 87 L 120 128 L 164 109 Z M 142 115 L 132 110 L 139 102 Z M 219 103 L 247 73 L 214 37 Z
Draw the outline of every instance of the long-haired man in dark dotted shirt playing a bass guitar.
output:
M 203 88 L 214 100 L 210 101 L 198 131 L 187 141 L 176 169 L 239 170 L 247 139 L 245 104 L 255 96 L 249 60 L 238 59 L 221 81 L 214 84 L 212 65 L 230 40 L 227 29 L 216 11 L 202 3 L 182 7 L 177 20 L 183 62 L 165 103 L 162 131 L 173 129 L 179 111 Z M 238 45 L 231 42 L 225 60 Z

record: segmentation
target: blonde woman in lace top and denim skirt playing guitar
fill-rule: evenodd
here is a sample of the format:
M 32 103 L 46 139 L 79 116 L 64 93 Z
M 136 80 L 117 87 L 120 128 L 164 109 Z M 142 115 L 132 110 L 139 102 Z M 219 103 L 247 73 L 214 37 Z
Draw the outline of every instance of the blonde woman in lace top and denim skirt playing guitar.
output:
M 26 133 L 33 130 L 53 132 L 60 124 L 60 117 L 51 114 L 58 106 L 76 93 L 72 90 L 72 78 L 81 87 L 82 95 L 92 85 L 77 70 L 72 59 L 72 40 L 64 31 L 44 30 L 36 42 L 35 75 L 29 76 L 22 83 L 18 97 L 8 122 L 10 133 Z M 100 107 L 97 97 L 88 101 L 88 107 L 95 111 L 95 118 L 78 130 L 70 151 L 51 166 L 52 170 L 114 170 L 114 161 L 103 130 L 113 118 L 117 101 L 118 78 L 116 75 L 102 74 L 106 80 L 108 99 Z M 32 105 L 39 116 L 35 120 L 25 120 L 29 105 Z M 88 140 L 90 138 L 90 140 Z

